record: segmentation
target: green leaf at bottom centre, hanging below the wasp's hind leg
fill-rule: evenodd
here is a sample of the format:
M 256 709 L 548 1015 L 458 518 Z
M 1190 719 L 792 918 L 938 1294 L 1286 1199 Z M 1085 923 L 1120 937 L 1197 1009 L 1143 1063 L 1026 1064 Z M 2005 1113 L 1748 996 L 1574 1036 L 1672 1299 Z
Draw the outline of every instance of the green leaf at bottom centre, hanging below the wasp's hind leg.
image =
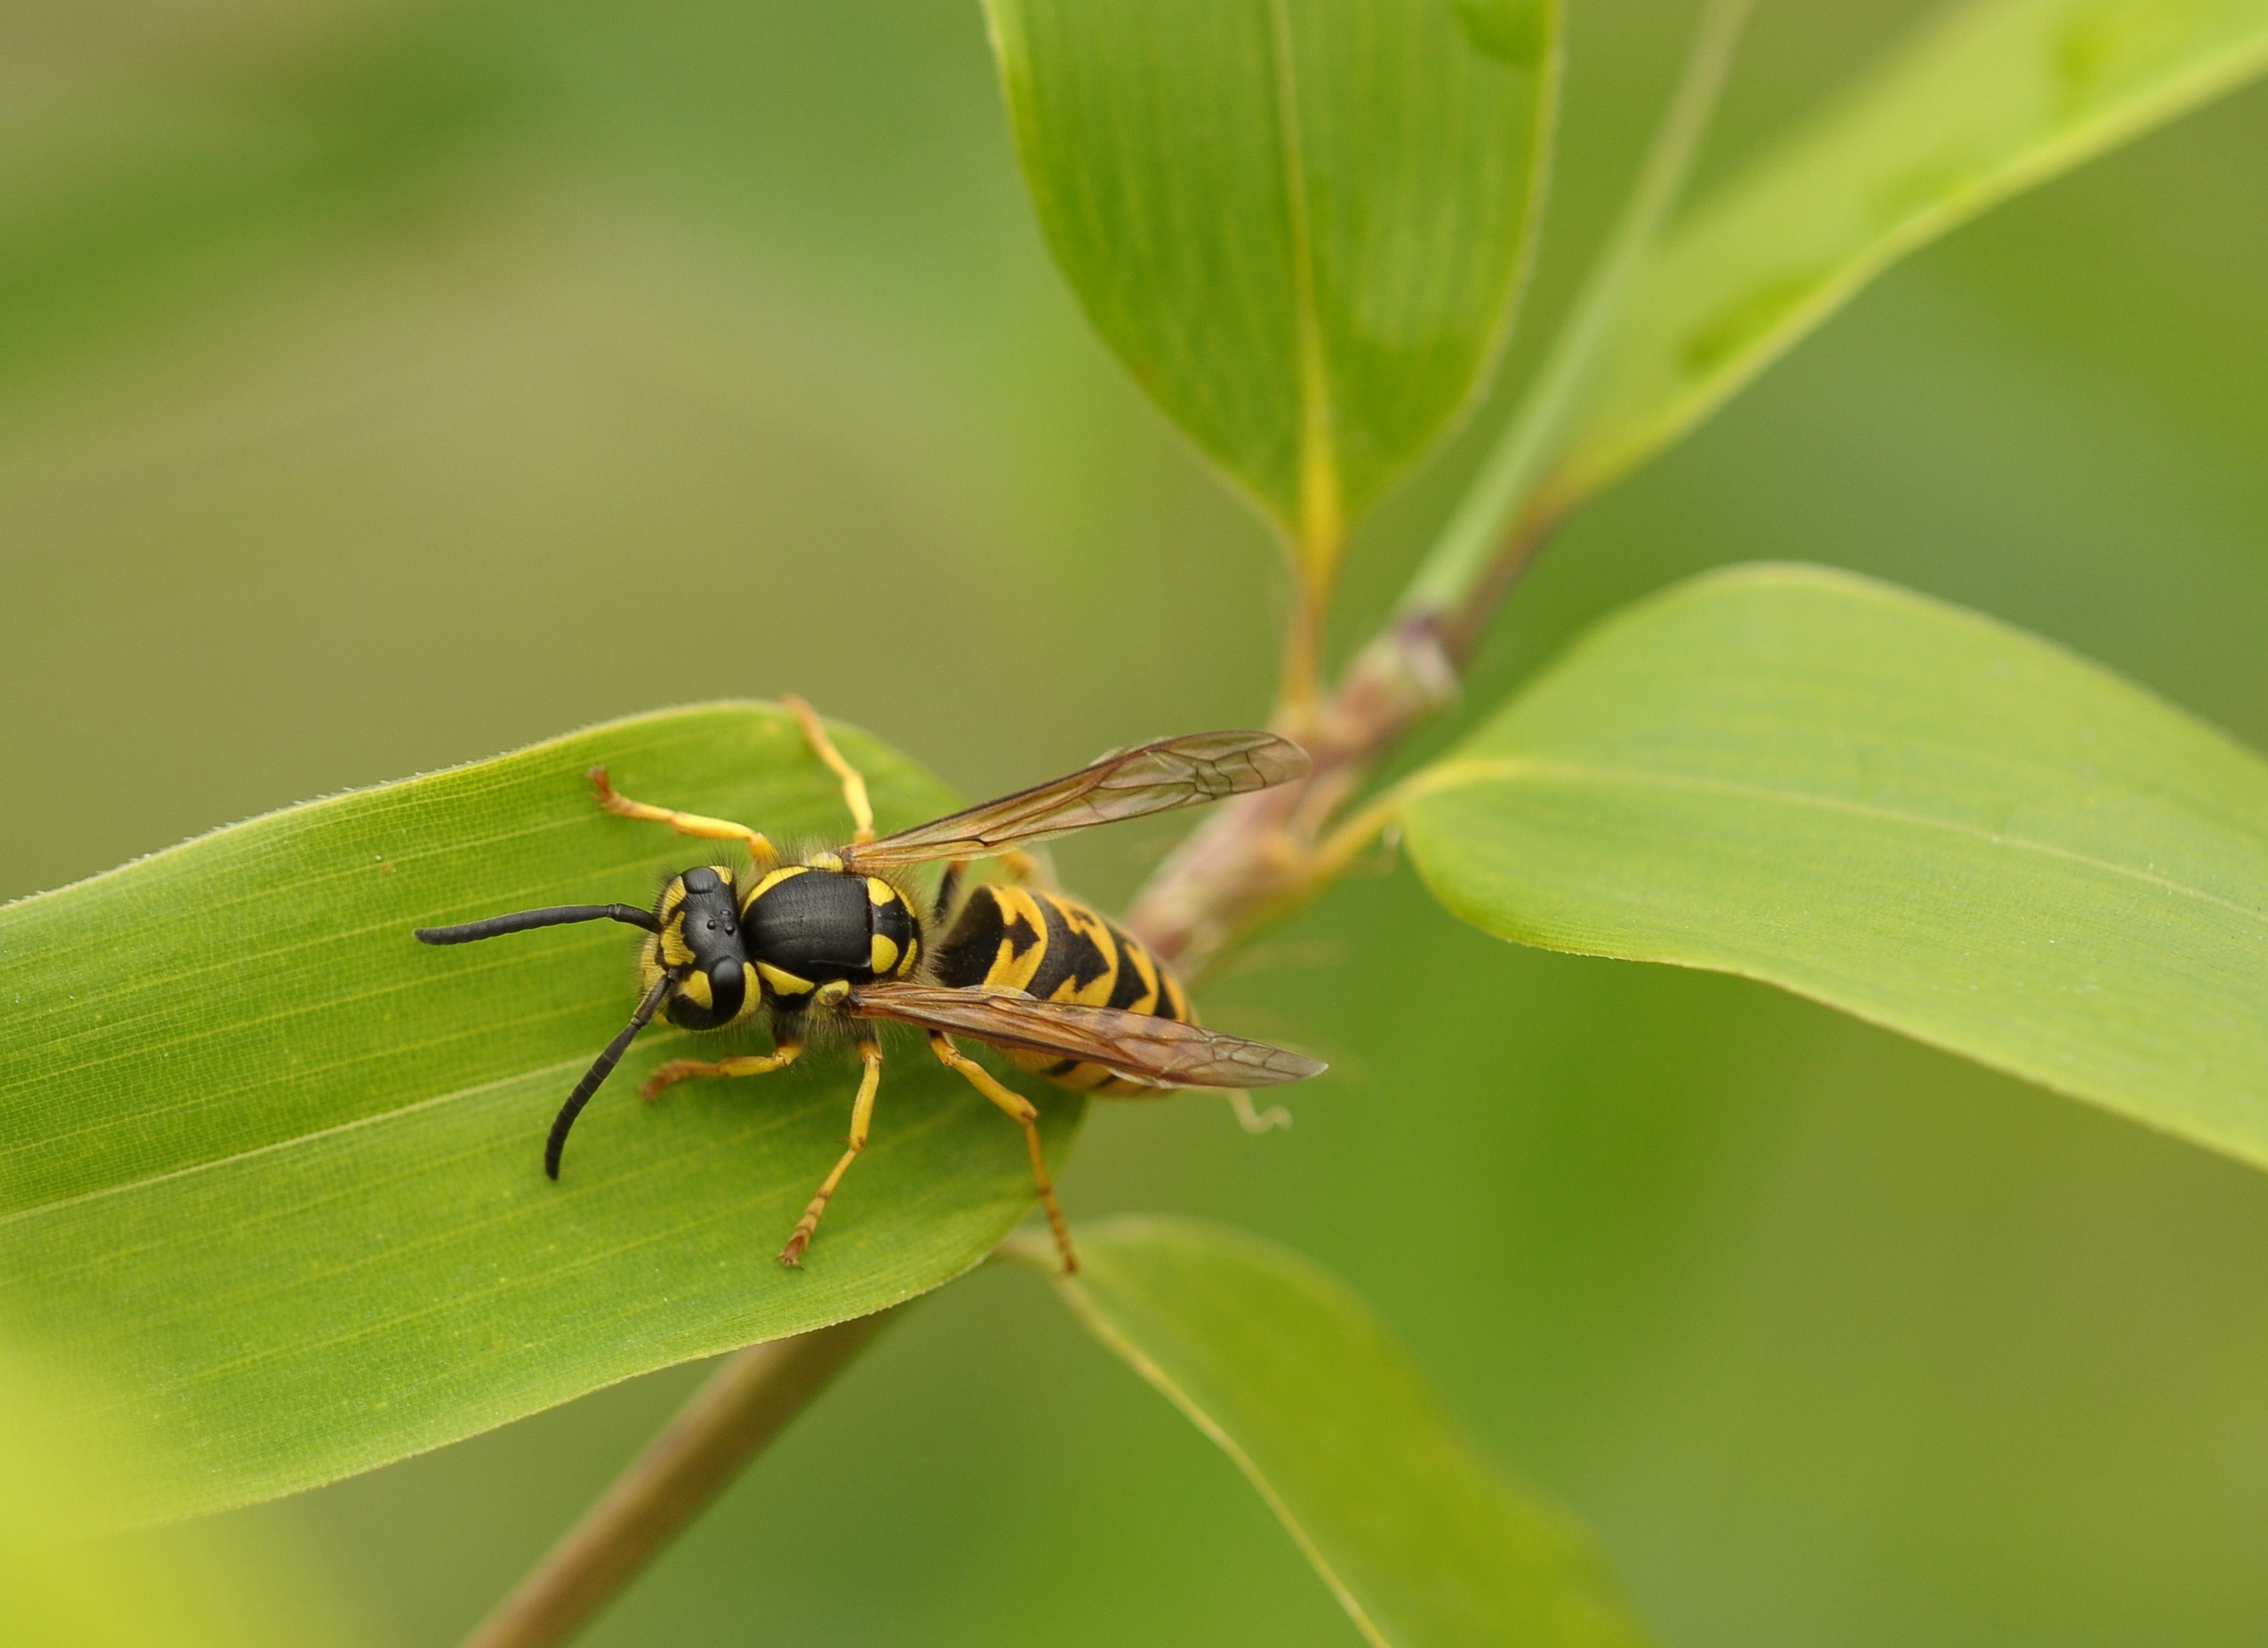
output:
M 1195 1220 L 1009 1251 L 1220 1444 L 1379 1648 L 1635 1646 L 1644 1632 L 1563 1512 L 1465 1439 L 1361 1299 L 1297 1254 Z

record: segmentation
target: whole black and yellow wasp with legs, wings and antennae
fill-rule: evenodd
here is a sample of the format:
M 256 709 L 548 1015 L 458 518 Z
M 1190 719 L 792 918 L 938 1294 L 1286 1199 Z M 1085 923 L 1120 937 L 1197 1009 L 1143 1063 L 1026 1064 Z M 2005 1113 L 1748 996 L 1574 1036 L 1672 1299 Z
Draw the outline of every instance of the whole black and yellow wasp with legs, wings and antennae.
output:
M 653 909 L 560 904 L 460 927 L 420 927 L 431 945 L 619 920 L 646 934 L 637 954 L 637 1009 L 551 1122 L 544 1172 L 560 1176 L 567 1131 L 655 1016 L 680 1029 L 730 1029 L 762 1020 L 769 1054 L 674 1059 L 640 1088 L 655 1097 L 687 1077 L 758 1077 L 785 1070 L 805 1045 L 830 1036 L 857 1045 L 864 1063 L 850 1102 L 850 1142 L 796 1222 L 782 1265 L 801 1265 L 819 1220 L 866 1147 L 882 1081 L 875 1020 L 928 1031 L 930 1052 L 1023 1124 L 1032 1183 L 1048 1210 L 1064 1269 L 1077 1269 L 1070 1229 L 1048 1179 L 1039 1111 L 953 1036 L 998 1047 L 1009 1063 L 1080 1093 L 1154 1097 L 1173 1088 L 1266 1088 L 1322 1072 L 1284 1047 L 1202 1029 L 1173 968 L 1086 904 L 1034 882 L 1023 852 L 1052 836 L 1118 818 L 1193 807 L 1268 789 L 1306 773 L 1306 750 L 1270 732 L 1195 732 L 1105 755 L 1048 784 L 982 807 L 875 836 L 864 775 L 835 748 L 801 698 L 787 707 L 812 753 L 841 782 L 853 834 L 846 846 L 787 857 L 760 830 L 653 807 L 615 791 L 590 768 L 599 805 L 621 818 L 665 823 L 703 841 L 739 841 L 746 880 L 726 864 L 669 877 Z M 1007 880 L 968 882 L 973 859 L 996 859 Z M 934 898 L 921 900 L 905 873 L 943 859 Z

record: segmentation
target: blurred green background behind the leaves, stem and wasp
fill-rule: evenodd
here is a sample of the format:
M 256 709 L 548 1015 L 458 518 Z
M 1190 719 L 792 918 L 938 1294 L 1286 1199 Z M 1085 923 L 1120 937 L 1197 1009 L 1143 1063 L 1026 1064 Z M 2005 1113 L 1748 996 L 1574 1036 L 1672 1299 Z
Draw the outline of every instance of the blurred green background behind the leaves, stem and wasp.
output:
M 1706 172 L 1923 11 L 1765 0 Z M 1687 23 L 1572 5 L 1515 372 Z M 2268 744 L 2263 154 L 2254 88 L 1892 272 L 1563 535 L 1470 705 L 1780 555 Z M 1472 453 L 1365 533 L 1343 639 Z M 975 0 L 7 7 L 0 589 L 0 895 L 728 694 L 1005 789 L 1250 723 L 1286 603 L 1048 265 Z M 1163 841 L 1061 864 L 1123 900 Z M 2259 1174 L 1760 986 L 1497 945 L 1406 870 L 1207 1011 L 1336 1070 L 1268 1138 L 1207 1097 L 1102 1108 L 1075 1215 L 1209 1213 L 1338 1269 L 1667 1643 L 2268 1637 Z M 449 1643 L 696 1378 L 225 1523 L 374 1641 Z M 592 1641 L 1359 1639 L 1207 1442 L 980 1274 Z

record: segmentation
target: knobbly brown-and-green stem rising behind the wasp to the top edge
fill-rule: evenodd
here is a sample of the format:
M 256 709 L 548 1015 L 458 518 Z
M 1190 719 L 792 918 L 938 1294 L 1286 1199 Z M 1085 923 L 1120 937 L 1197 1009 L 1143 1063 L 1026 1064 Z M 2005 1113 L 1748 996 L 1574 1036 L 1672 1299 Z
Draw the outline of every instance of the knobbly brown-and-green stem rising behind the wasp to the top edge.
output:
M 1202 977 L 1236 938 L 1306 904 L 1390 823 L 1390 807 L 1370 807 L 1352 832 L 1325 836 L 1370 768 L 1411 728 L 1454 703 L 1465 662 L 1504 596 L 1583 501 L 1560 485 L 1551 462 L 1631 277 L 1685 184 L 1749 5 L 1710 0 L 1701 14 L 1678 91 L 1615 233 L 1395 617 L 1354 655 L 1329 698 L 1297 714 L 1279 707 L 1275 730 L 1306 746 L 1309 778 L 1218 807 L 1134 900 L 1127 927 L 1186 975 Z M 1313 662 L 1302 662 L 1313 673 Z

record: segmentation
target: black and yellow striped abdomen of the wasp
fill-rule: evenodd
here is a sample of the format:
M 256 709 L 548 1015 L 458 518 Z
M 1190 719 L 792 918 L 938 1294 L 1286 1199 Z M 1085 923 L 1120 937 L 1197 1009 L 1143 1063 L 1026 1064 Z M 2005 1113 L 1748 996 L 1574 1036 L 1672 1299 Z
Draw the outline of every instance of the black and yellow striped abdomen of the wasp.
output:
M 1061 893 L 989 882 L 968 891 L 953 929 L 934 952 L 934 977 L 950 988 L 1025 991 L 1041 1002 L 1116 1006 L 1193 1025 L 1188 993 L 1173 968 Z M 1048 1054 L 1000 1050 L 1016 1068 L 1080 1093 L 1157 1095 L 1145 1081 L 1127 1081 L 1105 1065 Z

